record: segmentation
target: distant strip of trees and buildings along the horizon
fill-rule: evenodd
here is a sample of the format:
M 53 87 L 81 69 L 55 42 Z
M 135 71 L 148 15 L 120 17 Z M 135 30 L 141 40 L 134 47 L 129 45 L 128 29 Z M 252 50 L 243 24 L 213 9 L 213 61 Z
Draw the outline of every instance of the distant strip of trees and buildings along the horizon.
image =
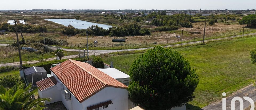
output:
M 160 10 L 160 11 L 166 11 L 166 15 L 174 15 L 174 14 L 189 14 L 189 15 L 195 15 L 195 14 L 204 14 L 207 13 L 206 16 L 209 16 L 211 14 L 223 14 L 223 13 L 232 13 L 232 14 L 243 14 L 243 15 L 249 15 L 249 14 L 255 14 L 255 10 Z M 62 12 L 62 13 L 70 13 L 70 14 L 78 14 L 78 13 L 86 13 L 86 14 L 122 14 L 127 15 L 134 13 L 136 16 L 141 16 L 139 13 L 143 12 L 143 14 L 146 16 L 152 12 L 158 12 L 158 10 L 0 10 L 0 12 L 6 12 L 6 13 L 48 13 L 48 12 Z

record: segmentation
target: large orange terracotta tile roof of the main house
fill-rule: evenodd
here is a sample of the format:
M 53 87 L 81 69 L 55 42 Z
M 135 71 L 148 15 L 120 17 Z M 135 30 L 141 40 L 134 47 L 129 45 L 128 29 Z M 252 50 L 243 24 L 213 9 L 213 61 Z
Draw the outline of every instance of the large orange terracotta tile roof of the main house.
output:
M 127 86 L 107 74 L 99 71 L 88 63 L 67 60 L 51 68 L 51 71 L 82 103 L 105 87 L 126 89 Z M 62 72 L 61 72 L 62 71 Z

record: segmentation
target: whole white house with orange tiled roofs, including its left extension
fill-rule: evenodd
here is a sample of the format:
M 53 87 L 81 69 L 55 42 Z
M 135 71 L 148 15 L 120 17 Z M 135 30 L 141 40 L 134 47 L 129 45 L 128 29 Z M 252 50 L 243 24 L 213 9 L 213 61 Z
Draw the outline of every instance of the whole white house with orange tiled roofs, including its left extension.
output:
M 62 101 L 69 110 L 128 110 L 127 86 L 88 63 L 67 60 L 36 82 L 45 104 Z

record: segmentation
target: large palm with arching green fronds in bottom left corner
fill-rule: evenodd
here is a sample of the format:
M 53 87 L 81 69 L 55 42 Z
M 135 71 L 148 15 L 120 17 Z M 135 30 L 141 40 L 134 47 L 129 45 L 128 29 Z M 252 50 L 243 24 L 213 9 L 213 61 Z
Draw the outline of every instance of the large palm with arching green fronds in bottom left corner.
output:
M 31 96 L 38 91 L 29 91 L 31 83 L 24 89 L 25 84 L 16 84 L 12 88 L 0 86 L 0 107 L 5 110 L 30 110 L 44 105 L 50 98 L 31 99 Z

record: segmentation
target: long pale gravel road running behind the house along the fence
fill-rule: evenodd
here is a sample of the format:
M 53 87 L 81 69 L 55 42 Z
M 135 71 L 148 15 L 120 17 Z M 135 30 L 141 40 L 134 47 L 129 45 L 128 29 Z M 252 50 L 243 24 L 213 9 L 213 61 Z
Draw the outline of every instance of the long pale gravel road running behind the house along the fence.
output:
M 244 36 L 248 36 L 248 35 L 256 35 L 256 33 L 250 33 L 250 34 L 245 34 Z M 231 37 L 225 37 L 225 38 L 217 38 L 217 39 L 210 39 L 210 40 L 205 40 L 205 42 L 208 41 L 218 41 L 221 39 L 229 39 L 229 38 L 234 38 L 234 37 L 241 37 L 242 35 L 238 35 L 238 36 L 231 36 Z M 195 44 L 195 43 L 201 43 L 203 41 L 196 41 L 196 42 L 189 42 L 189 43 L 183 43 L 182 45 L 188 45 L 188 44 Z M 3 46 L 7 46 L 8 44 L 1 44 Z M 0 45 L 0 46 L 1 46 Z M 173 46 L 180 46 L 181 44 L 176 44 L 176 45 L 167 45 L 167 46 L 163 46 L 163 47 L 173 47 Z M 154 47 L 147 47 L 147 48 L 140 48 L 140 49 L 123 49 L 123 50 L 89 50 L 89 55 L 100 55 L 100 54 L 105 54 L 105 53 L 111 53 L 111 52 L 117 52 L 117 51 L 133 51 L 133 50 L 145 50 L 145 49 L 152 49 Z M 63 49 L 65 51 L 79 51 L 77 49 Z M 69 58 L 76 58 L 79 55 L 70 55 Z M 49 60 L 54 60 L 55 58 L 49 58 L 46 59 L 47 61 Z M 67 59 L 67 56 L 64 56 L 63 59 Z M 31 64 L 33 63 L 38 63 L 38 60 L 34 60 L 34 61 L 30 61 Z M 23 63 L 28 63 L 28 61 L 23 61 Z M 14 62 L 13 63 L 6 63 L 6 64 L 0 64 L 1 66 L 6 66 L 6 65 L 15 65 L 18 66 L 19 62 Z

